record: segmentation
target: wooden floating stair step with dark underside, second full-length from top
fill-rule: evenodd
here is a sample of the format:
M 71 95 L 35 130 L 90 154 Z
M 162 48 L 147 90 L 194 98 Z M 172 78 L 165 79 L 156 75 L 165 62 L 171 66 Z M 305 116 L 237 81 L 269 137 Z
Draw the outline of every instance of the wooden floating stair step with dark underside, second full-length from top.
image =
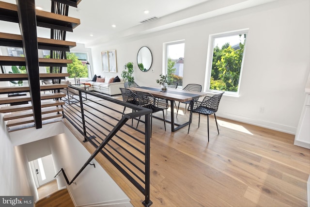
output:
M 9 34 L 0 32 L 0 45 L 7 47 L 22 48 L 22 37 L 19 34 Z M 70 48 L 76 47 L 75 42 L 55 40 L 38 37 L 38 48 L 47 50 L 70 51 Z

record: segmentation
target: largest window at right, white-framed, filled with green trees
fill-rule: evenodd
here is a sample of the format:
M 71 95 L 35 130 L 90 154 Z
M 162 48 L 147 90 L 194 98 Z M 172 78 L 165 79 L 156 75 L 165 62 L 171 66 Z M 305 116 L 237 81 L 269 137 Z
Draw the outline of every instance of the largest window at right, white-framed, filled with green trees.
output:
M 208 89 L 237 95 L 240 87 L 248 30 L 211 35 Z M 211 50 L 212 49 L 212 50 Z M 211 56 L 212 55 L 212 56 Z

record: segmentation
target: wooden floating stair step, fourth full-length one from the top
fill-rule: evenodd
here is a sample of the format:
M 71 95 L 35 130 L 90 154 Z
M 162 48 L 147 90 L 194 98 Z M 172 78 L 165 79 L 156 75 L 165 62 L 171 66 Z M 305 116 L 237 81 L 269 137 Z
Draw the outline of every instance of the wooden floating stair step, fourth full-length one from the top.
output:
M 40 80 L 65 79 L 69 73 L 40 73 Z M 28 74 L 22 73 L 4 73 L 0 74 L 0 81 L 10 80 L 28 80 Z

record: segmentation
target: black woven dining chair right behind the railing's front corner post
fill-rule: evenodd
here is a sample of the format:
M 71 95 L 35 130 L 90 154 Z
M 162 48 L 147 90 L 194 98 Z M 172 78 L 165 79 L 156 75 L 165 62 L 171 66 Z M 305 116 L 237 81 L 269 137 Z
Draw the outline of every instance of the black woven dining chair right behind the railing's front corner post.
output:
M 155 98 L 152 96 L 152 94 L 140 92 L 137 91 L 139 105 L 141 107 L 151 109 L 151 135 L 152 135 L 152 119 L 153 119 L 153 113 L 157 111 L 163 111 L 163 119 L 164 119 L 164 125 L 165 125 L 165 131 L 166 131 L 166 121 L 165 121 L 165 113 L 164 110 L 168 109 L 168 100 L 161 99 L 161 98 Z M 139 122 L 137 124 L 137 127 L 139 125 Z

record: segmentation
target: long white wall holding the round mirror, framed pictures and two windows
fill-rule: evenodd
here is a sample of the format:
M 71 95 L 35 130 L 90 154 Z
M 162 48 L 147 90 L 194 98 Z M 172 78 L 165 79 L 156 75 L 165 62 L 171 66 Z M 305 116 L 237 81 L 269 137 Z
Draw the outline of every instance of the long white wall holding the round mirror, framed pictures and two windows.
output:
M 139 39 L 94 46 L 93 68 L 96 75 L 120 76 L 124 64 L 133 62 L 135 81 L 157 86 L 163 43 L 185 39 L 184 85 L 204 85 L 209 35 L 249 28 L 240 96 L 223 96 L 217 115 L 294 134 L 310 71 L 309 25 L 309 0 L 279 0 Z M 153 55 L 148 72 L 137 66 L 142 46 L 149 47 Z M 101 51 L 112 49 L 117 53 L 117 74 L 102 72 Z M 260 107 L 264 107 L 263 113 L 259 113 Z

